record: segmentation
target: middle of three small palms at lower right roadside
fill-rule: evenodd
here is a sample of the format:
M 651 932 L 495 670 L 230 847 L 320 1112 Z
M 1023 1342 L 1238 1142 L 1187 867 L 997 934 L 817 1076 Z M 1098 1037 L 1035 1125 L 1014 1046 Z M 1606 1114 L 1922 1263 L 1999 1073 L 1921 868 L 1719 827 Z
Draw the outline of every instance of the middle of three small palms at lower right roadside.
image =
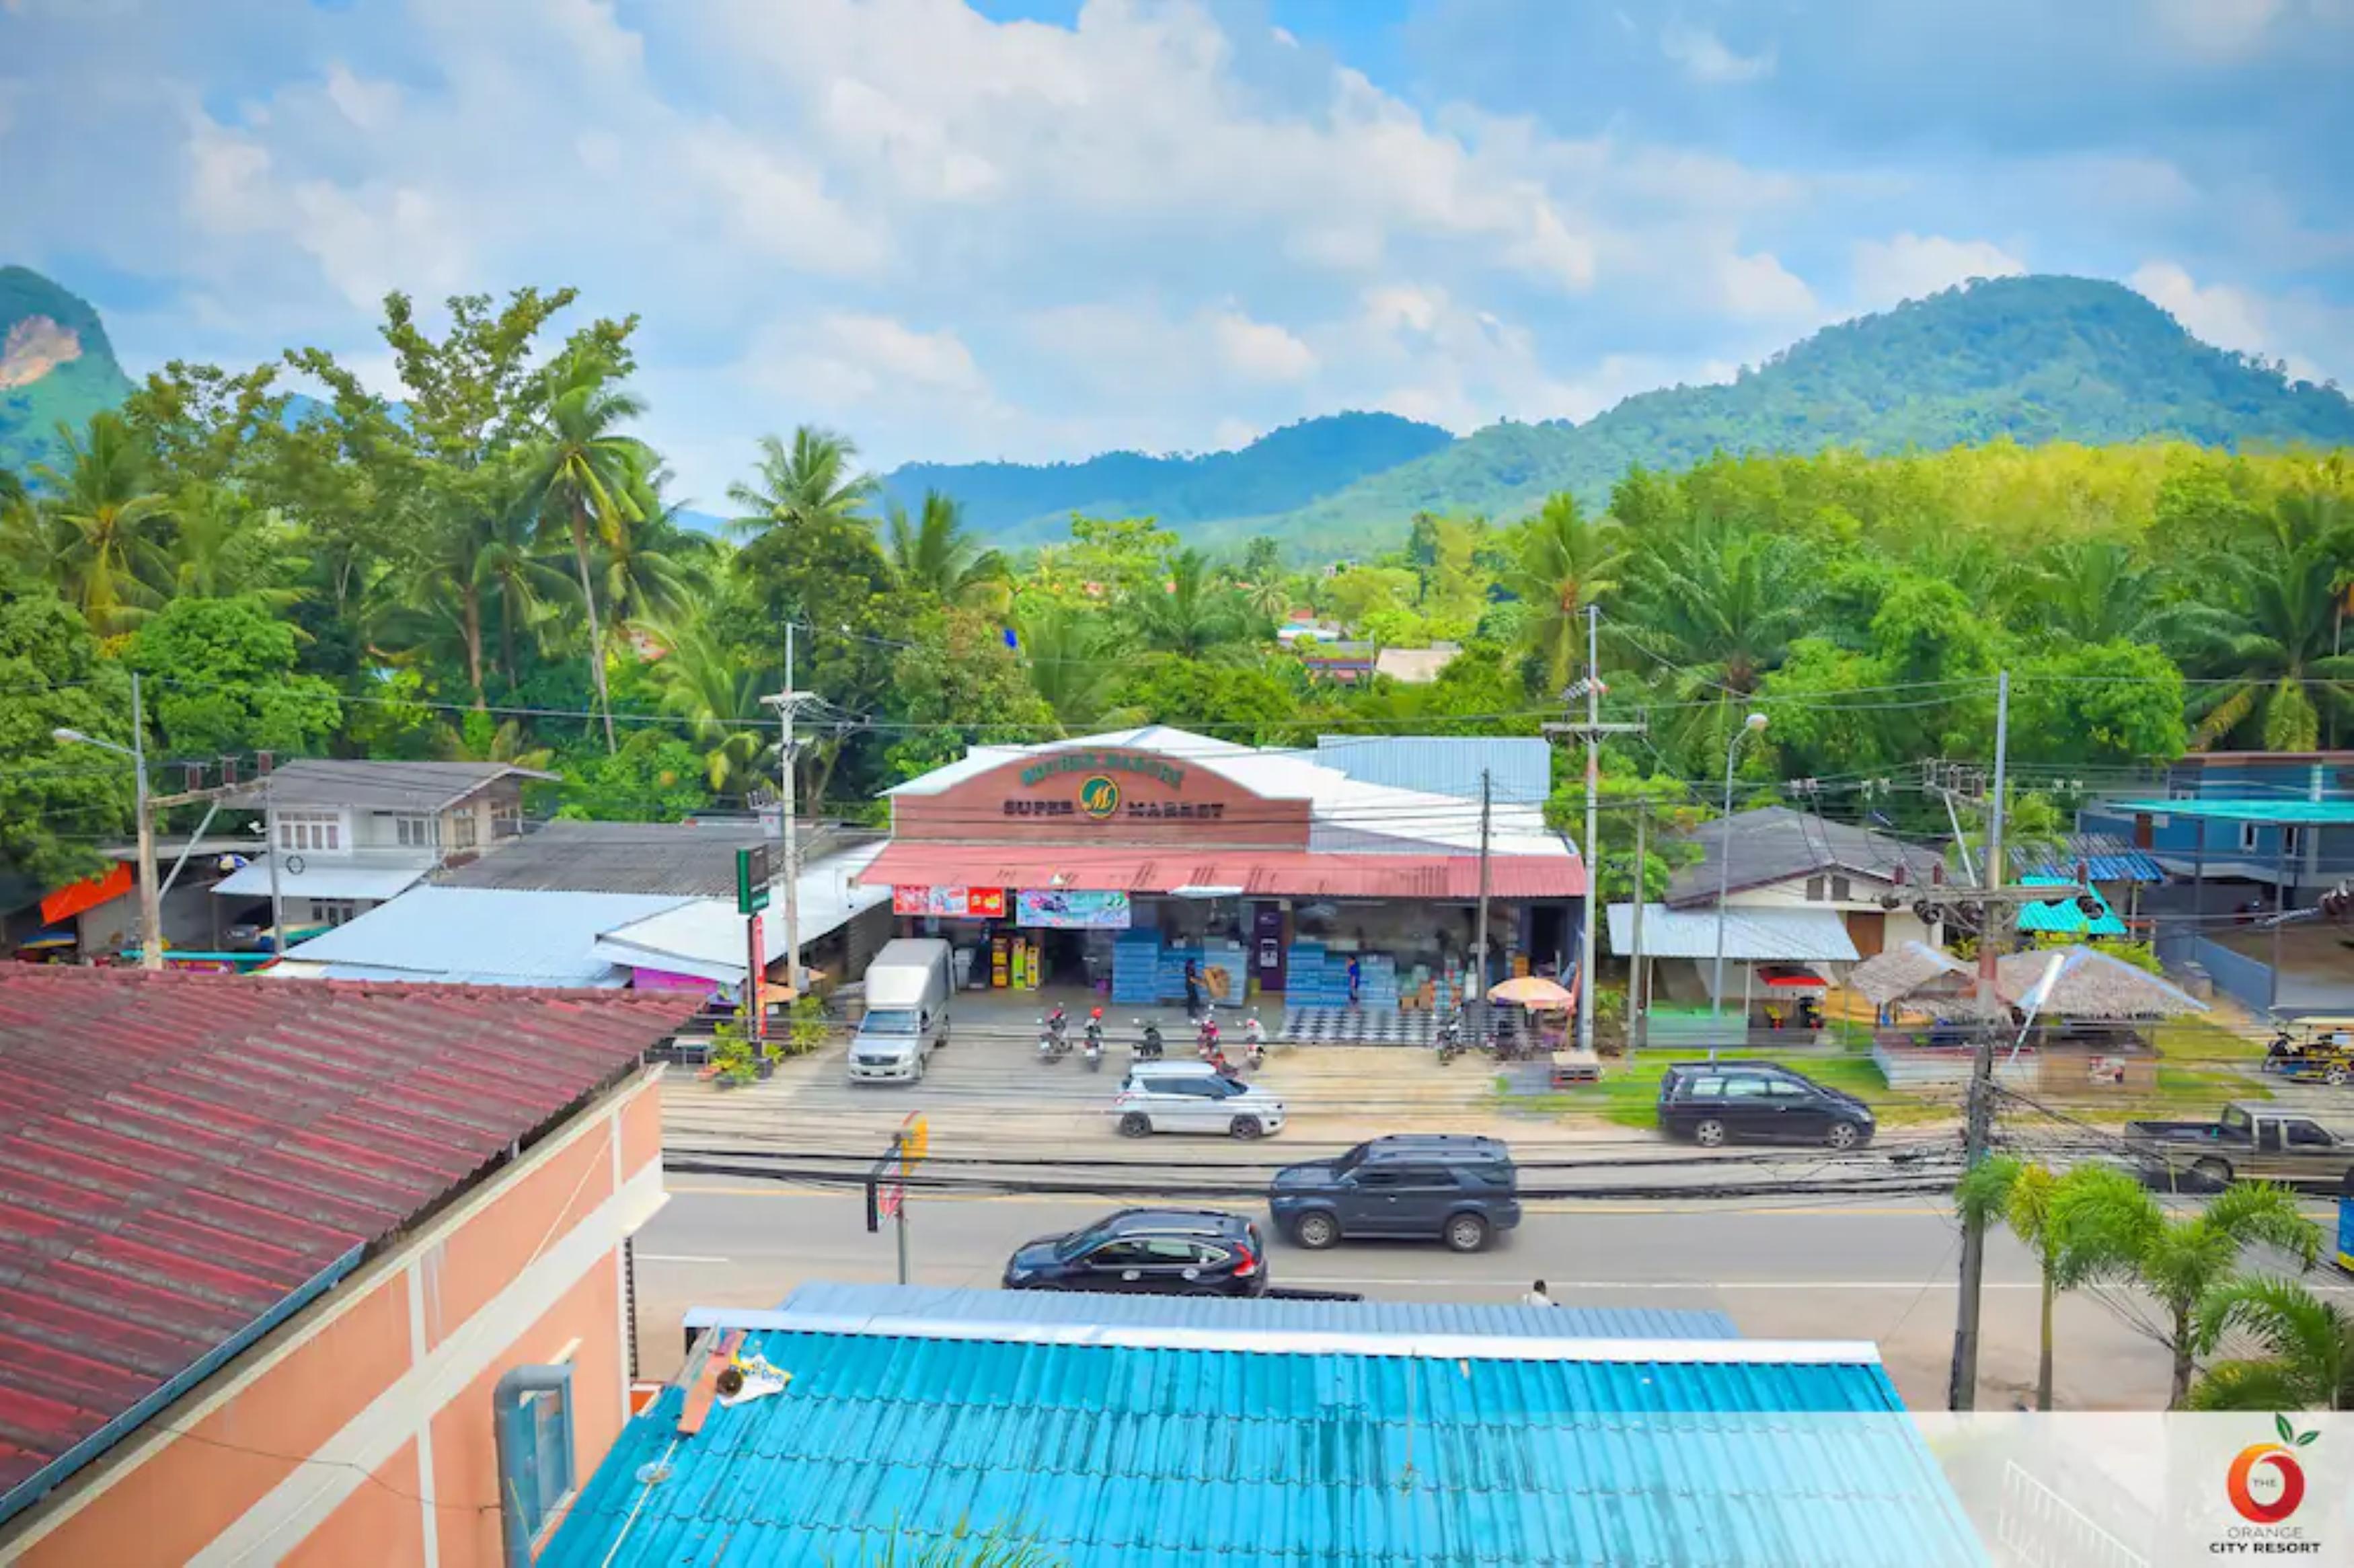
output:
M 2121 1262 L 2119 1271 L 2159 1309 L 2159 1318 L 2147 1321 L 2142 1302 L 2109 1297 L 2112 1307 L 2173 1354 L 2168 1410 L 2185 1408 L 2192 1396 L 2196 1314 L 2234 1278 L 2241 1255 L 2265 1243 L 2312 1264 L 2321 1250 L 2321 1231 L 2298 1212 L 2298 1196 L 2267 1182 L 2232 1184 L 2199 1212 L 2180 1217 L 2130 1182 L 2102 1191 L 2097 1201 L 2062 1196 L 2062 1203 L 2072 1201 L 2067 1222 L 2090 1248 Z

